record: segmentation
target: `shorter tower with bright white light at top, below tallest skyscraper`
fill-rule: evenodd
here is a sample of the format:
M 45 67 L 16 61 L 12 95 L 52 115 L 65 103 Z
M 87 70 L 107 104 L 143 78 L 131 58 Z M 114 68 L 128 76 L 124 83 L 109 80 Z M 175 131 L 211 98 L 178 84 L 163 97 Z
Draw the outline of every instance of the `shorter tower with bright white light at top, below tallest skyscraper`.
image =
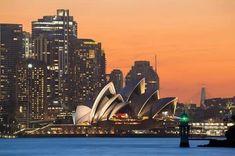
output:
M 28 59 L 17 65 L 17 118 L 21 128 L 47 117 L 46 65 Z

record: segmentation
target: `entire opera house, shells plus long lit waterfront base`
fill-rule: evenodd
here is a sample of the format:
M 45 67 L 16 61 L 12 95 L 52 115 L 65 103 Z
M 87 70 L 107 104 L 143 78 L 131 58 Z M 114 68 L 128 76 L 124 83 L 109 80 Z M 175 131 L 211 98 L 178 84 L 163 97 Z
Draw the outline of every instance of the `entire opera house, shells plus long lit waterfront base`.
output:
M 98 94 L 92 106 L 78 105 L 73 124 L 51 124 L 28 134 L 121 135 L 156 133 L 163 122 L 174 120 L 176 97 L 159 98 L 159 91 L 145 88 L 145 78 L 117 93 L 112 82 Z

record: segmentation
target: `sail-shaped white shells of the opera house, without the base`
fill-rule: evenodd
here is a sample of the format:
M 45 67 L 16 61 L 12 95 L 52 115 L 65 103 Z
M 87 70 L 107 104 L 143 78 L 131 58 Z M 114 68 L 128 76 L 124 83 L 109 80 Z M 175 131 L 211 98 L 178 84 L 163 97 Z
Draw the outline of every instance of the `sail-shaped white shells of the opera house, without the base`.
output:
M 131 120 L 164 120 L 173 118 L 176 97 L 159 98 L 159 91 L 148 91 L 145 78 L 126 86 L 117 93 L 112 82 L 98 94 L 92 106 L 79 105 L 73 116 L 74 124 L 96 124 L 118 117 Z

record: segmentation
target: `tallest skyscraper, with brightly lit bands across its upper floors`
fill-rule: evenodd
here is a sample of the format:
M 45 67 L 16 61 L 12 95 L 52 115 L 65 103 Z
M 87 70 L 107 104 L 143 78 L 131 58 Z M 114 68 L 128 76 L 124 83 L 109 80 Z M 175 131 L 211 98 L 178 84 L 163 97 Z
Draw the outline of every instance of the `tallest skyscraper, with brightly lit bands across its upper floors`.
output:
M 50 83 L 49 111 L 55 116 L 70 105 L 71 97 L 67 95 L 70 82 L 71 51 L 69 39 L 77 37 L 77 23 L 69 10 L 57 10 L 54 16 L 44 16 L 32 22 L 32 39 L 34 55 L 37 60 L 46 62 L 49 69 Z

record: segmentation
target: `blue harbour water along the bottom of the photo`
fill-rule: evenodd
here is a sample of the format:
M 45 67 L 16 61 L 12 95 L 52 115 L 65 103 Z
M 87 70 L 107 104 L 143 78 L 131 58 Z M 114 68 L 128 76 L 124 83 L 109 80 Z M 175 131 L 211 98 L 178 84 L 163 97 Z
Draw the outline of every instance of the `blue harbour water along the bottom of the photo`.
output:
M 179 138 L 16 138 L 0 139 L 0 156 L 232 156 L 234 148 L 197 147 L 190 141 L 179 148 Z

